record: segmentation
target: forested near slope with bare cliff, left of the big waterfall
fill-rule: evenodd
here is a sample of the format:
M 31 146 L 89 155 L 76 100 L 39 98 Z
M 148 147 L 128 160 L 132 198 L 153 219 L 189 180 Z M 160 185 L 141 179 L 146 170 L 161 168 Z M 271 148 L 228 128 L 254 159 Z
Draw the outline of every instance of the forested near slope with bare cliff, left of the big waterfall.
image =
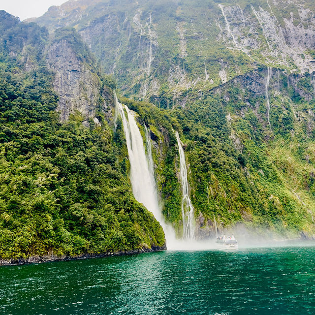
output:
M 4 11 L 0 29 L 0 264 L 162 248 L 109 128 L 114 85 L 80 36 Z

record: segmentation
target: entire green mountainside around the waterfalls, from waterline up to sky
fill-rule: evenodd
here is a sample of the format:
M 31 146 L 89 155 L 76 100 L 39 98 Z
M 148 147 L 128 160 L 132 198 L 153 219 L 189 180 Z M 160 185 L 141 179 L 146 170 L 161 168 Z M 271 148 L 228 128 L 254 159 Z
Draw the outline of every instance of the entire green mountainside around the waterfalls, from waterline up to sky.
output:
M 36 19 L 50 34 L 3 13 L 0 256 L 163 247 L 131 193 L 116 87 L 144 142 L 149 129 L 163 214 L 179 238 L 176 131 L 196 239 L 237 226 L 314 238 L 314 10 L 310 1 L 77 0 Z

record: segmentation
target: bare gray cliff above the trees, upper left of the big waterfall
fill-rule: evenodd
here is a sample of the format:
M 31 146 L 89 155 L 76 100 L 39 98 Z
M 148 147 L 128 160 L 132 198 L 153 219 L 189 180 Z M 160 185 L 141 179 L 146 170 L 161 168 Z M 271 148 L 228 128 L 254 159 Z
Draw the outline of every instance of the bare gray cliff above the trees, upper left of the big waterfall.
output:
M 77 57 L 65 39 L 49 47 L 47 64 L 55 72 L 53 86 L 60 96 L 57 111 L 61 114 L 61 121 L 66 121 L 76 111 L 86 120 L 93 119 L 99 104 L 101 109 L 106 109 L 106 101 L 100 98 L 99 77 Z

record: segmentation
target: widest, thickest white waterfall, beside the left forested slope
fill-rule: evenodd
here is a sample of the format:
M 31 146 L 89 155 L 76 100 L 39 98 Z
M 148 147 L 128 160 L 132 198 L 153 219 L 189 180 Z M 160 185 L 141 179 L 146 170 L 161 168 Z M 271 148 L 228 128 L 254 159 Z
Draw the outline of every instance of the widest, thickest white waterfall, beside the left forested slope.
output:
M 154 177 L 154 163 L 149 131 L 145 128 L 148 151 L 148 154 L 146 155 L 143 138 L 135 120 L 134 113 L 130 111 L 126 105 L 118 102 L 117 97 L 115 97 L 115 107 L 117 109 L 117 115 L 119 112 L 123 120 L 130 162 L 129 178 L 133 195 L 138 202 L 142 203 L 153 213 L 164 230 L 167 248 L 174 249 L 174 244 L 176 242 L 175 231 L 171 226 L 165 223 L 158 202 L 158 190 Z

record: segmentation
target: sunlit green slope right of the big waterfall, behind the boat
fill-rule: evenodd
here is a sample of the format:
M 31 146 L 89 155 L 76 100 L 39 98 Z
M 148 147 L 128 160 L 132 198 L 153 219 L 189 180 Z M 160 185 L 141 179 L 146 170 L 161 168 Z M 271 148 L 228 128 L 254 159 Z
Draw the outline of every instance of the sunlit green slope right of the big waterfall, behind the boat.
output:
M 260 68 L 184 109 L 163 111 L 124 99 L 154 130 L 164 214 L 179 234 L 181 187 L 172 129 L 179 130 L 189 162 L 196 238 L 213 236 L 215 226 L 222 230 L 239 223 L 269 236 L 314 237 L 315 92 L 305 89 L 302 97 L 302 85 L 312 87 L 311 77 L 288 81 L 283 71 Z

